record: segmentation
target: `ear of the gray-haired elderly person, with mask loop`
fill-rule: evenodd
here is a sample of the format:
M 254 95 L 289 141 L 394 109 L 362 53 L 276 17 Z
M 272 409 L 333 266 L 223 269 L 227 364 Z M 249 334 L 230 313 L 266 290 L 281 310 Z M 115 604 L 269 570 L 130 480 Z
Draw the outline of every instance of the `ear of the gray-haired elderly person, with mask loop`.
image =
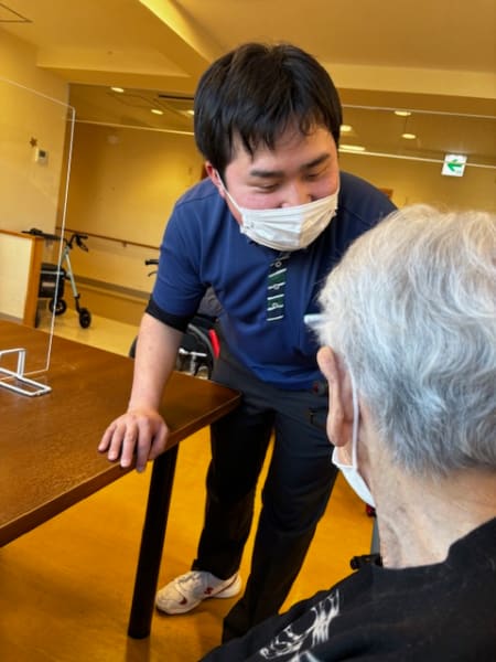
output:
M 319 351 L 319 365 L 328 382 L 327 435 L 334 446 L 352 440 L 353 395 L 349 373 L 331 348 Z

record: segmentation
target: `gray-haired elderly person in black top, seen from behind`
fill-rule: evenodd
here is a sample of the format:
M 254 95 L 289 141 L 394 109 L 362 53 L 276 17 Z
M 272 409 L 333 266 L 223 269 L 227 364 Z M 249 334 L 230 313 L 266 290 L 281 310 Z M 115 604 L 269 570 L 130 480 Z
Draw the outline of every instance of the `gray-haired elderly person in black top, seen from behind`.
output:
M 321 292 L 333 461 L 381 563 L 214 650 L 226 660 L 496 660 L 496 218 L 428 206 L 358 238 Z

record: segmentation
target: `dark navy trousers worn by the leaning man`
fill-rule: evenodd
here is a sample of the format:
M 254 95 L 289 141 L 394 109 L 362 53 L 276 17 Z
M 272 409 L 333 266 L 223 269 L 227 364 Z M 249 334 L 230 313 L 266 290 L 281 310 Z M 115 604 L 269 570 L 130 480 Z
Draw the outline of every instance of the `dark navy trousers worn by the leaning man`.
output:
M 282 391 L 258 380 L 224 346 L 213 380 L 242 393 L 240 406 L 212 426 L 204 528 L 193 569 L 227 579 L 238 570 L 254 516 L 257 481 L 274 442 L 245 595 L 224 621 L 223 641 L 280 609 L 324 513 L 337 470 L 325 430 L 327 394 Z

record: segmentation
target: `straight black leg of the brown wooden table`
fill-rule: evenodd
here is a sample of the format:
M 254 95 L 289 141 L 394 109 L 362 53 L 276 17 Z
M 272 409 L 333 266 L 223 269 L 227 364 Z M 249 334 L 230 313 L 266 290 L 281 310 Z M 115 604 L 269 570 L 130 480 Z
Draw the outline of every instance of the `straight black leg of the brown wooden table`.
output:
M 177 448 L 172 447 L 153 462 L 129 616 L 128 634 L 133 639 L 144 639 L 150 634 Z

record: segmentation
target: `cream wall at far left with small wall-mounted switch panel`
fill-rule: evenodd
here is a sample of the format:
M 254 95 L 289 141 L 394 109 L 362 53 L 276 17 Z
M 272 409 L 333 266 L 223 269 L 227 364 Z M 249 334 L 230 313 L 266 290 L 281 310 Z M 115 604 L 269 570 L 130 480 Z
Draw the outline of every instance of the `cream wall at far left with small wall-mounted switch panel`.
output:
M 54 231 L 67 96 L 67 83 L 36 67 L 32 46 L 0 30 L 1 228 Z M 35 162 L 36 147 L 47 151 L 45 164 Z

